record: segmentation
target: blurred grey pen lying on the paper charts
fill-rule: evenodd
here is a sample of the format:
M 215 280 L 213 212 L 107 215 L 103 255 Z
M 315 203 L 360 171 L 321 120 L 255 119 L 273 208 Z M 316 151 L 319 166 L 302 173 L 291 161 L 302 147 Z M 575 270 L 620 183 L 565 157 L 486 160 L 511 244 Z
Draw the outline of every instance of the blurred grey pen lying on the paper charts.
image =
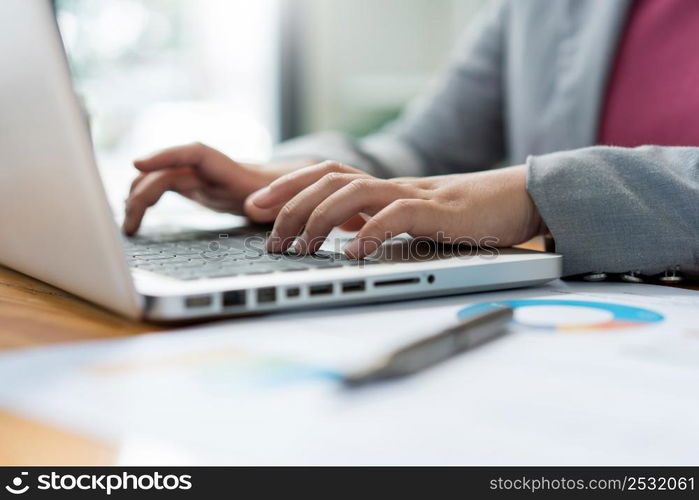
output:
M 466 318 L 458 325 L 403 346 L 364 369 L 349 373 L 343 382 L 356 387 L 379 380 L 410 375 L 460 352 L 467 351 L 507 331 L 511 307 L 498 306 Z

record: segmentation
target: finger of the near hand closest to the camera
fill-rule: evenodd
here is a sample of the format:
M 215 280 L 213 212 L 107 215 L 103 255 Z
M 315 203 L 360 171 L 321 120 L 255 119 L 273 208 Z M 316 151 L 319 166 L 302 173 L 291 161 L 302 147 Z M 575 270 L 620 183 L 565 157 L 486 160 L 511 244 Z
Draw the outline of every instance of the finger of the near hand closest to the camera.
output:
M 436 205 L 429 200 L 401 199 L 394 201 L 364 224 L 357 236 L 345 247 L 345 254 L 361 259 L 374 253 L 381 244 L 394 236 L 434 234 L 440 224 Z

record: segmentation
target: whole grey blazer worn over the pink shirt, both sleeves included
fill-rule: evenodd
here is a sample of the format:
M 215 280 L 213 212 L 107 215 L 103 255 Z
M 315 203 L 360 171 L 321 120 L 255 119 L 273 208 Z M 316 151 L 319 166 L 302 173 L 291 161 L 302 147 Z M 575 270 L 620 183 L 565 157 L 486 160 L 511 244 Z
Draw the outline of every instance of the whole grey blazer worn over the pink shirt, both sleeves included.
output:
M 699 274 L 699 148 L 593 146 L 629 4 L 494 0 L 448 71 L 395 123 L 358 141 L 305 136 L 278 155 L 382 177 L 526 162 L 566 275 Z

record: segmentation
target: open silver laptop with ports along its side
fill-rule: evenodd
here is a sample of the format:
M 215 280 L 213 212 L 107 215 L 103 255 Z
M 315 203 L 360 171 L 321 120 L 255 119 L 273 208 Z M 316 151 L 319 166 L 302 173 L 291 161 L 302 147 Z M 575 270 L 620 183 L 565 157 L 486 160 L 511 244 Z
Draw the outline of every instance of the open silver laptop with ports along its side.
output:
M 561 256 L 394 238 L 369 258 L 264 250 L 268 228 L 125 238 L 110 209 L 48 0 L 0 2 L 0 263 L 157 322 L 538 285 Z M 125 166 L 125 168 L 127 168 Z

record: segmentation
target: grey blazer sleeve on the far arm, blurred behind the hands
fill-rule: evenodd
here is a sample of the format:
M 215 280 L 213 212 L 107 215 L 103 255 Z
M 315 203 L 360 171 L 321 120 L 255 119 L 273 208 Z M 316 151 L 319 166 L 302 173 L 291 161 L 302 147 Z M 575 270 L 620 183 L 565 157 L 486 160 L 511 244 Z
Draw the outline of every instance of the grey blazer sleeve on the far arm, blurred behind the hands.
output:
M 325 132 L 282 143 L 275 158 L 337 160 L 380 177 L 491 168 L 505 156 L 503 24 L 505 0 L 470 24 L 431 91 L 393 123 L 360 140 Z

